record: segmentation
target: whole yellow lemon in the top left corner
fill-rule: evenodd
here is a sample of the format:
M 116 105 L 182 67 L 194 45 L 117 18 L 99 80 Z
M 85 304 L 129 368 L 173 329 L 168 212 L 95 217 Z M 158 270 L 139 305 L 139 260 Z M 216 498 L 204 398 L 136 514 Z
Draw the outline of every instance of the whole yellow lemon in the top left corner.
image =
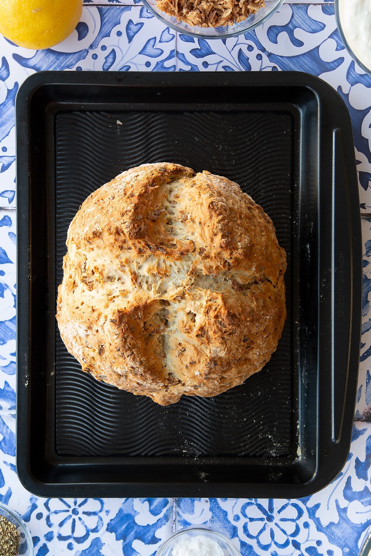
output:
M 24 48 L 50 48 L 75 29 L 82 0 L 0 0 L 0 33 Z

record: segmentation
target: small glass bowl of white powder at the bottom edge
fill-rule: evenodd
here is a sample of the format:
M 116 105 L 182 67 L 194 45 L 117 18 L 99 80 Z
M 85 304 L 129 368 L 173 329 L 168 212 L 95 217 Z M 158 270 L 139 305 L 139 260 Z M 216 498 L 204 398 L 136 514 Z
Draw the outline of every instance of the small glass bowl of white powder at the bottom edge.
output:
M 207 527 L 185 527 L 161 544 L 155 556 L 241 556 L 231 540 Z

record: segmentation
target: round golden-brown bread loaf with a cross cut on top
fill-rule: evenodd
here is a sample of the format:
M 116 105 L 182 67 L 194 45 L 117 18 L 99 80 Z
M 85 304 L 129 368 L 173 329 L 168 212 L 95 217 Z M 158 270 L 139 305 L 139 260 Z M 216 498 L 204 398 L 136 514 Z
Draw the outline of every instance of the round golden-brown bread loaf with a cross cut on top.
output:
M 275 351 L 286 256 L 237 183 L 131 168 L 82 203 L 66 245 L 58 326 L 97 380 L 168 405 L 243 383 Z

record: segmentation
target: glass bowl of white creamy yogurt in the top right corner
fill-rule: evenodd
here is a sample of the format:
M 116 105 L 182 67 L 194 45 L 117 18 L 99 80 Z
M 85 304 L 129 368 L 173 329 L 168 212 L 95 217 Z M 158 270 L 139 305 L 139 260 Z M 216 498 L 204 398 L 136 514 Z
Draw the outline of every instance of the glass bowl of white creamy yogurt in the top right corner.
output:
M 371 73 L 371 0 L 335 0 L 335 16 L 350 56 Z

